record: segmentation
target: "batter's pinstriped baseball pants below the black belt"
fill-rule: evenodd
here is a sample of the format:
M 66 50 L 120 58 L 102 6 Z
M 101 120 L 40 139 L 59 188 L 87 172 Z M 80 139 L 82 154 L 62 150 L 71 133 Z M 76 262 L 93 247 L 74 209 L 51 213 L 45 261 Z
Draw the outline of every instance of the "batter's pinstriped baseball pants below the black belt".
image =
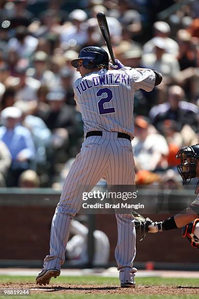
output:
M 90 192 L 101 178 L 108 185 L 134 185 L 135 171 L 131 142 L 118 138 L 116 132 L 103 131 L 102 136 L 90 136 L 66 177 L 60 202 L 51 226 L 50 255 L 44 259 L 44 269 L 59 269 L 64 262 L 71 219 L 80 210 L 82 188 Z M 87 187 L 89 189 L 89 187 Z M 85 191 L 85 189 L 84 189 Z M 132 214 L 116 214 L 118 242 L 115 257 L 121 282 L 134 281 L 133 260 L 136 254 L 136 233 Z

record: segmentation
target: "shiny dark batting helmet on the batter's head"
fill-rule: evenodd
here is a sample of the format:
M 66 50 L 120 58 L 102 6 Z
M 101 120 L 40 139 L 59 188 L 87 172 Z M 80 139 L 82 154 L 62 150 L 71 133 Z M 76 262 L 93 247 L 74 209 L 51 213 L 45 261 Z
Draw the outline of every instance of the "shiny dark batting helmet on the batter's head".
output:
M 100 47 L 86 47 L 80 51 L 78 59 L 71 61 L 74 67 L 78 67 L 79 59 L 82 59 L 83 67 L 92 69 L 100 64 L 108 66 L 109 57 L 107 52 Z

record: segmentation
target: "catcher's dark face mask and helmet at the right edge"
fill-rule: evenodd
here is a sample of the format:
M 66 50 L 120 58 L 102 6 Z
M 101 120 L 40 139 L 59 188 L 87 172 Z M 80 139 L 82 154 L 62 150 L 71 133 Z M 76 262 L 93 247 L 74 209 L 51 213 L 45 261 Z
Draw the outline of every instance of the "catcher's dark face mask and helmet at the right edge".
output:
M 187 183 L 188 179 L 190 182 L 192 178 L 196 177 L 196 167 L 199 159 L 199 144 L 179 149 L 176 158 L 180 159 L 181 162 L 177 165 L 177 168 L 184 185 Z

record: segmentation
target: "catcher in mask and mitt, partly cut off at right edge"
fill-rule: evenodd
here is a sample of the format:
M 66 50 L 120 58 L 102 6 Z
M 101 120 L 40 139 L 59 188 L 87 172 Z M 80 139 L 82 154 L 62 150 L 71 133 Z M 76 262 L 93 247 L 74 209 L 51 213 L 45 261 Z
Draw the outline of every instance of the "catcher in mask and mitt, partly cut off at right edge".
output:
M 187 183 L 187 180 L 190 182 L 192 178 L 199 177 L 199 144 L 179 149 L 176 157 L 180 159 L 177 168 L 182 177 L 183 185 Z M 176 214 L 163 221 L 153 222 L 149 218 L 145 219 L 140 214 L 133 213 L 136 218 L 137 233 L 144 237 L 148 232 L 158 233 L 182 227 L 182 236 L 186 236 L 191 245 L 199 249 L 199 181 L 196 185 L 195 194 L 197 195 L 196 199 L 182 214 Z

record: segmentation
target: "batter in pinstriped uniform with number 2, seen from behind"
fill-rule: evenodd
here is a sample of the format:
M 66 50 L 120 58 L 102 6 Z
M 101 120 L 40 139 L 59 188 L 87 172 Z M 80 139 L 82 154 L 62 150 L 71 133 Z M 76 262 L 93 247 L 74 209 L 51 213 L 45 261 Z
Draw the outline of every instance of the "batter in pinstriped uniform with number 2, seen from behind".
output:
M 86 47 L 71 64 L 81 78 L 74 84 L 75 101 L 84 122 L 84 142 L 63 186 L 60 202 L 52 220 L 50 255 L 37 283 L 49 284 L 60 275 L 71 219 L 80 210 L 82 190 L 87 192 L 101 178 L 108 185 L 135 183 L 131 140 L 134 138 L 134 93 L 139 88 L 151 91 L 162 76 L 155 70 L 131 69 L 119 61 L 108 69 L 109 58 L 100 47 Z M 90 187 L 89 187 L 90 186 Z M 84 189 L 85 190 L 85 189 Z M 118 243 L 115 257 L 121 287 L 135 287 L 133 268 L 136 234 L 132 214 L 116 214 Z M 133 232 L 133 233 L 132 233 Z

